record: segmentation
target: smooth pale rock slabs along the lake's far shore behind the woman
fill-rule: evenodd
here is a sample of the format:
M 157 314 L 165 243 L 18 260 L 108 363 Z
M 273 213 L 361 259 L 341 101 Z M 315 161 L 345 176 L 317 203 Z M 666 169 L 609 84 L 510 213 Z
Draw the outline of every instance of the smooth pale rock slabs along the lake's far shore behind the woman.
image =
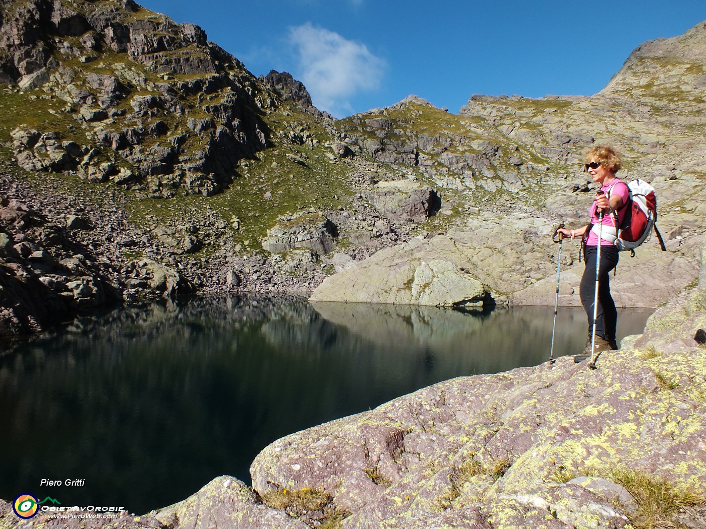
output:
M 666 217 L 669 221 L 670 218 Z M 667 224 L 665 221 L 664 224 Z M 554 305 L 556 245 L 549 219 L 483 213 L 448 233 L 413 238 L 328 276 L 312 301 L 420 305 Z M 698 279 L 702 236 L 667 252 L 652 243 L 621 255 L 611 291 L 618 307 L 654 308 Z M 581 306 L 579 243 L 565 241 L 559 305 Z M 434 263 L 432 265 L 432 263 Z

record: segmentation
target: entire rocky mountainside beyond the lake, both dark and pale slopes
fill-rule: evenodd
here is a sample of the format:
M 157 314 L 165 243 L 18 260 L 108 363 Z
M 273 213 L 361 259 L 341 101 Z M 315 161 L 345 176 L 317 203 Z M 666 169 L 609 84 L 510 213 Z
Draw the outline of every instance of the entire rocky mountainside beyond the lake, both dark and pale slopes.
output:
M 200 28 L 132 1 L 1 6 L 0 193 L 51 229 L 67 216 L 90 226 L 63 234 L 83 254 L 0 226 L 13 243 L 0 286 L 26 300 L 316 288 L 318 300 L 551 304 L 551 232 L 585 218 L 577 162 L 605 141 L 621 147 L 624 176 L 657 188 L 669 247 L 623 259 L 618 303 L 656 306 L 695 279 L 703 23 L 640 47 L 592 97 L 473 96 L 454 115 L 411 96 L 335 121 L 291 75 L 255 78 Z M 15 248 L 23 237 L 47 253 L 42 267 Z M 582 266 L 565 246 L 561 303 L 575 305 Z M 87 253 L 83 272 L 53 265 Z M 100 284 L 79 288 L 90 302 L 71 300 L 82 278 Z M 4 332 L 57 314 L 1 299 Z

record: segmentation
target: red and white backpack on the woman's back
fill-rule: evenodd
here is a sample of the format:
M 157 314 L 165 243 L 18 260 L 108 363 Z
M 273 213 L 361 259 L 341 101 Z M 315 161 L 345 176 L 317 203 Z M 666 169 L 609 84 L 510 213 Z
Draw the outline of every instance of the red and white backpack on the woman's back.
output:
M 654 194 L 654 188 L 644 180 L 633 180 L 628 184 L 630 197 L 628 202 L 621 206 L 620 209 L 627 207 L 625 217 L 622 223 L 618 223 L 618 212 L 613 212 L 614 221 L 618 226 L 617 238 L 615 241 L 616 248 L 624 252 L 630 250 L 630 256 L 635 256 L 635 248 L 647 241 L 654 229 L 659 239 L 659 247 L 666 251 L 662 234 L 657 229 L 657 195 Z M 610 197 L 611 188 L 608 190 Z

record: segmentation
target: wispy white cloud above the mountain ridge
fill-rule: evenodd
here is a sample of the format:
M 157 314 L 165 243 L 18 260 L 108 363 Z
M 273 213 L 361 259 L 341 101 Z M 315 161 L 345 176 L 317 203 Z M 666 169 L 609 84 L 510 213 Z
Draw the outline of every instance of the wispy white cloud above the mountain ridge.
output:
M 311 93 L 313 104 L 334 116 L 350 114 L 349 99 L 380 83 L 385 61 L 365 44 L 311 23 L 291 28 L 289 41 L 299 54 L 296 76 Z

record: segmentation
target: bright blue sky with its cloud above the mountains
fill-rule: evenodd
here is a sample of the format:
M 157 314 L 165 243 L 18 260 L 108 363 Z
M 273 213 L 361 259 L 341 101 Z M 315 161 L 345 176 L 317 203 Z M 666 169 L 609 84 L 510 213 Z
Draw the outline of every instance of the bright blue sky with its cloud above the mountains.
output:
M 255 75 L 287 71 L 336 117 L 414 94 L 592 95 L 633 49 L 706 20 L 704 0 L 138 0 Z

